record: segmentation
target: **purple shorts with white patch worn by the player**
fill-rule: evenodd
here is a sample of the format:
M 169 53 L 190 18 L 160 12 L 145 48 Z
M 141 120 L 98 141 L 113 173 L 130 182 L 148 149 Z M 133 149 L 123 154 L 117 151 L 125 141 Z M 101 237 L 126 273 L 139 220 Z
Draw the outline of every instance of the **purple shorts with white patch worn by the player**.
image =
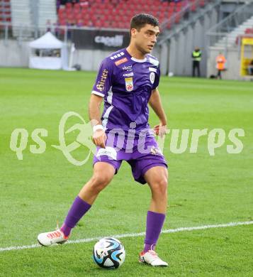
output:
M 167 168 L 167 162 L 159 150 L 154 136 L 148 136 L 145 141 L 134 139 L 133 143 L 129 143 L 132 145 L 125 147 L 124 144 L 123 148 L 118 148 L 115 141 L 108 143 L 109 139 L 108 137 L 106 148 L 98 147 L 96 149 L 94 164 L 99 161 L 110 163 L 117 174 L 122 161 L 127 161 L 132 168 L 133 178 L 141 184 L 147 183 L 144 175 L 150 168 L 154 166 Z

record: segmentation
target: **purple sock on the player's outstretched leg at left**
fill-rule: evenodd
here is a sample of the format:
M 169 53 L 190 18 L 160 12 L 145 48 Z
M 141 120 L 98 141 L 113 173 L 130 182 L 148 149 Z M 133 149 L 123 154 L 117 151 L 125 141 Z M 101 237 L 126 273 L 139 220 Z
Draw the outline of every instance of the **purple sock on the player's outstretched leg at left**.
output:
M 90 207 L 91 205 L 77 196 L 67 214 L 64 224 L 61 227 L 61 231 L 65 237 L 69 237 L 71 229 L 74 228 L 81 217 L 89 211 Z

